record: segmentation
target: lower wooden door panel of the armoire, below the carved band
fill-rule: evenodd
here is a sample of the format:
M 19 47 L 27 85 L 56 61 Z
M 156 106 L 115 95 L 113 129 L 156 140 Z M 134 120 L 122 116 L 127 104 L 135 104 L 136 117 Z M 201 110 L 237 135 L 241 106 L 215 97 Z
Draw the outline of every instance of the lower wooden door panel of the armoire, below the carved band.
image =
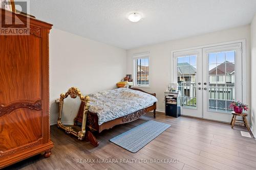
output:
M 0 152 L 42 138 L 42 111 L 19 108 L 0 117 Z

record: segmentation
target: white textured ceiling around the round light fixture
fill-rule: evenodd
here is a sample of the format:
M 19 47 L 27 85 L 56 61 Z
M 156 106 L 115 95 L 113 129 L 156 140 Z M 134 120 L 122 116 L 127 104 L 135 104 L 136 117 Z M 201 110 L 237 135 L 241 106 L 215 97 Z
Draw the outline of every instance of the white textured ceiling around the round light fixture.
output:
M 133 23 L 127 14 L 139 12 Z M 247 25 L 256 0 L 31 0 L 30 13 L 54 28 L 131 49 Z

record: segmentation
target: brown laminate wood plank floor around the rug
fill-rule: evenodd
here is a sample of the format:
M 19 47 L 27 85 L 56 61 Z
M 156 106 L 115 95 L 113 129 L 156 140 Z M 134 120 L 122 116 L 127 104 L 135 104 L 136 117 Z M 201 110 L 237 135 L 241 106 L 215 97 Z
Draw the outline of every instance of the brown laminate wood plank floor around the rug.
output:
M 155 120 L 172 127 L 137 153 L 109 141 L 151 119 L 153 114 L 147 113 L 132 123 L 103 131 L 96 135 L 100 142 L 97 148 L 66 135 L 56 125 L 51 126 L 54 148 L 50 158 L 37 155 L 6 169 L 256 169 L 256 140 L 241 136 L 240 131 L 247 130 L 240 126 L 231 129 L 229 124 L 184 116 L 174 118 L 158 112 Z M 87 162 L 77 163 L 79 159 Z M 120 159 L 124 159 L 123 163 Z M 179 163 L 150 162 L 161 159 L 178 159 Z M 118 163 L 94 163 L 93 160 L 118 160 Z

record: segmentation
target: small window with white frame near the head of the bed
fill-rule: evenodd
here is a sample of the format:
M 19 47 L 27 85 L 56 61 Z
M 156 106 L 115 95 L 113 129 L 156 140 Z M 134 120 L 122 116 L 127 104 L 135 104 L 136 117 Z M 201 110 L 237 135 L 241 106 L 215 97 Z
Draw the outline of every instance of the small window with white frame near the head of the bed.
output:
M 150 57 L 149 53 L 134 55 L 135 86 L 150 85 Z

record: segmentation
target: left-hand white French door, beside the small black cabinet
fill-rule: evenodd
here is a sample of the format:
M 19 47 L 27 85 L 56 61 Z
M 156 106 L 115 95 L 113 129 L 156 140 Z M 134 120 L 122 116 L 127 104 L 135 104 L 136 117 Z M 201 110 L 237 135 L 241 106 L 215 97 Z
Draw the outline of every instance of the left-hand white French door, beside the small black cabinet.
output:
M 203 117 L 202 81 L 202 50 L 174 53 L 174 82 L 181 92 L 181 114 Z

